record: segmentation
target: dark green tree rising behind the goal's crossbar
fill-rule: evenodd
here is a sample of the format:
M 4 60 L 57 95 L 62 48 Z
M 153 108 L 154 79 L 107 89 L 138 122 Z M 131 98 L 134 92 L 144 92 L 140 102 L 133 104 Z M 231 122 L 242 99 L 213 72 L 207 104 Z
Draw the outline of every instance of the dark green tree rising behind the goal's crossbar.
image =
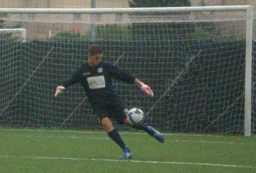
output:
M 132 0 L 129 1 L 130 7 L 179 7 L 191 6 L 189 0 Z M 156 30 L 157 28 L 157 30 Z M 186 30 L 186 28 L 190 28 Z M 172 36 L 172 41 L 180 40 L 185 34 L 194 32 L 195 25 L 183 23 L 132 23 L 132 31 L 135 40 L 148 40 L 157 42 L 159 38 L 164 39 L 167 35 Z M 148 39 L 147 39 L 148 38 Z

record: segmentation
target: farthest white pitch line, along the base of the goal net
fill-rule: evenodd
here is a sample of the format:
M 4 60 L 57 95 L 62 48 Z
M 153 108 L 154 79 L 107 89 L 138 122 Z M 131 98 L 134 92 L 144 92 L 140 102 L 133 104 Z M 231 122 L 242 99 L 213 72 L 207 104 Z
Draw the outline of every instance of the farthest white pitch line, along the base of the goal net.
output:
M 90 132 L 90 131 L 61 131 L 61 130 L 47 130 L 47 129 L 15 129 L 15 128 L 0 128 L 0 131 L 35 131 L 35 132 L 68 132 L 68 133 L 87 133 L 87 134 L 106 134 L 106 132 Z M 147 135 L 147 133 L 133 133 L 133 132 L 119 132 L 120 134 L 136 134 Z M 162 133 L 165 136 L 209 136 L 209 137 L 224 137 L 221 135 L 208 134 L 186 134 L 186 133 Z

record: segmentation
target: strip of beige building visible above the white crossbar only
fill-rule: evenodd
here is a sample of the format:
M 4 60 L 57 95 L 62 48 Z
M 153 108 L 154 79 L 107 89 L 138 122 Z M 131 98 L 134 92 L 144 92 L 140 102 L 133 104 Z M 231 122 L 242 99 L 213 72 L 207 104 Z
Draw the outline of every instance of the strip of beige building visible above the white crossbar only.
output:
M 1 8 L 127 8 L 129 0 L 0 0 Z M 191 6 L 254 5 L 256 0 L 190 0 Z

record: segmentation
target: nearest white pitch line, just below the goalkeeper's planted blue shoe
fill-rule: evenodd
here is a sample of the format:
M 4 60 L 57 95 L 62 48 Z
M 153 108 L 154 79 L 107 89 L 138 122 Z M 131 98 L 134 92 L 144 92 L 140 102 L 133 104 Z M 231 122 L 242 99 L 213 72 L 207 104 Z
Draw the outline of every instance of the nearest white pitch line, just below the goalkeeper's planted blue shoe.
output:
M 154 163 L 170 165 L 197 165 L 197 166 L 214 166 L 214 167 L 233 167 L 233 168 L 256 168 L 256 166 L 244 165 L 222 165 L 215 163 L 193 163 L 193 162 L 170 162 L 170 161 L 141 161 L 141 160 L 115 160 L 115 159 L 94 159 L 94 158 L 57 158 L 57 157 L 27 157 L 14 155 L 0 155 L 0 158 L 19 158 L 19 159 L 47 159 L 47 160 L 79 160 L 79 161 L 109 161 L 109 162 L 134 162 L 134 163 Z

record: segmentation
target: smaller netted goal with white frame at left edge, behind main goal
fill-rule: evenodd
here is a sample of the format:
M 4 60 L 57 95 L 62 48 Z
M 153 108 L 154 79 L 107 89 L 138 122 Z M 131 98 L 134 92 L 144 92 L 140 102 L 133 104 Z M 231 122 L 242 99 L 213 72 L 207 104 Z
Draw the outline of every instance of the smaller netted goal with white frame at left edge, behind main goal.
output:
M 14 119 L 11 118 L 18 117 L 20 112 L 20 96 L 16 97 L 15 94 L 21 84 L 22 42 L 26 42 L 26 29 L 0 29 L 0 40 L 0 109 L 3 113 L 0 114 L 0 122 L 1 125 L 13 125 Z M 9 107 L 12 101 L 14 105 Z

